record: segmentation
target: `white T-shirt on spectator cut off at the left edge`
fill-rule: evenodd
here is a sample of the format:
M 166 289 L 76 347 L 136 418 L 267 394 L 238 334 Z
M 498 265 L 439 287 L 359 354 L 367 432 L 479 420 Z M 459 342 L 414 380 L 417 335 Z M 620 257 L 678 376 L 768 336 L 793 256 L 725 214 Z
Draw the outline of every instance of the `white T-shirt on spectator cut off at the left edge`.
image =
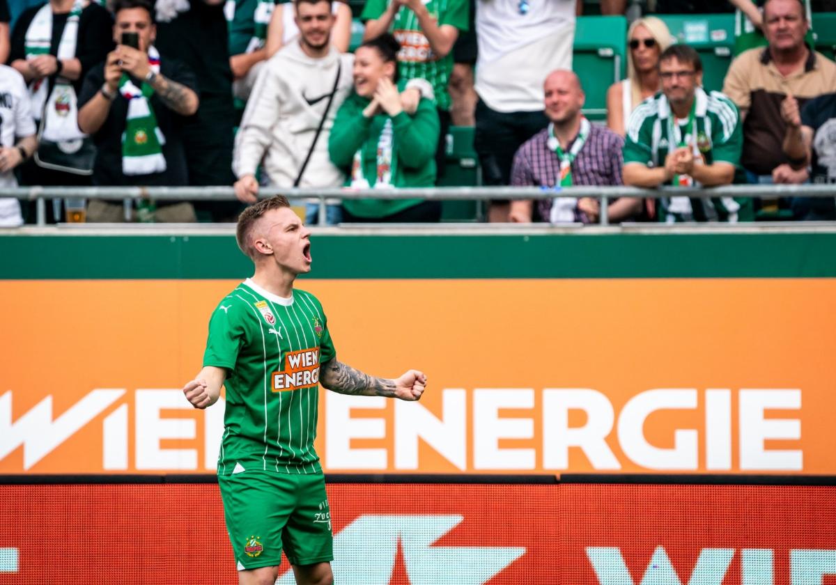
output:
M 7 65 L 0 65 L 0 144 L 14 146 L 18 137 L 31 136 L 37 131 L 23 75 Z M 18 186 L 12 170 L 0 173 L 0 186 Z M 0 227 L 21 224 L 23 216 L 18 200 L 0 198 Z

